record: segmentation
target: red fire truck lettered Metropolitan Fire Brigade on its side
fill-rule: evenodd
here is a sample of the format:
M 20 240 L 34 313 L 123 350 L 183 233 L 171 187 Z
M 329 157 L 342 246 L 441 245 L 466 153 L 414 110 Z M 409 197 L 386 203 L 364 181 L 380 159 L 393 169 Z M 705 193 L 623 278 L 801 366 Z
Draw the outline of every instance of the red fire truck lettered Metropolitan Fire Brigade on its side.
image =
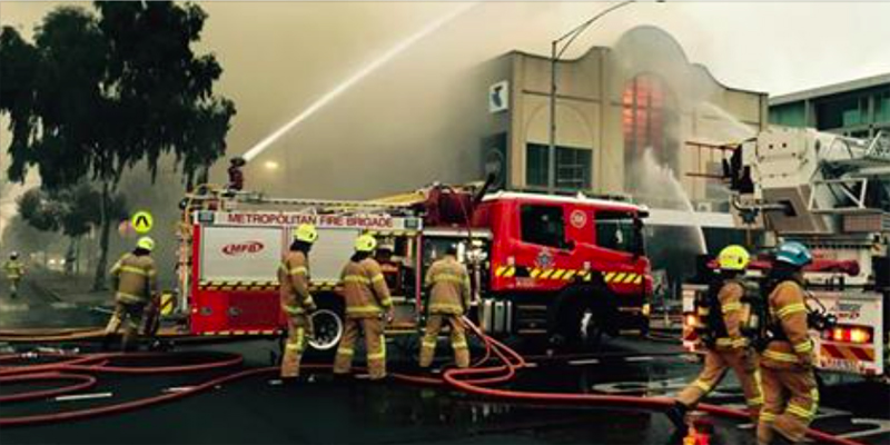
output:
M 295 226 L 316 225 L 310 255 L 319 310 L 313 346 L 342 333 L 338 278 L 353 241 L 372 234 L 396 304 L 390 330 L 416 332 L 423 276 L 448 246 L 473 277 L 473 315 L 494 335 L 537 335 L 578 346 L 642 334 L 652 289 L 645 208 L 582 195 L 425 189 L 369 201 L 276 199 L 212 191 L 184 200 L 178 307 L 197 335 L 277 335 L 276 270 Z

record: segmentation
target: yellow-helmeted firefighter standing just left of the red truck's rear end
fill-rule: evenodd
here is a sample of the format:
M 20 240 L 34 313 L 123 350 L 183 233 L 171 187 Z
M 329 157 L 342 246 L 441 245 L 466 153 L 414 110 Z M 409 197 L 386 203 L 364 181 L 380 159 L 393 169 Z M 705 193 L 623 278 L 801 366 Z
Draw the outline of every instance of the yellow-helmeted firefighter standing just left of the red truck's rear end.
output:
M 141 237 L 136 248 L 123 254 L 111 267 L 111 280 L 116 289 L 115 313 L 105 328 L 103 348 L 108 348 L 111 337 L 123 324 L 121 349 L 128 350 L 134 338 L 142 328 L 142 315 L 146 306 L 158 294 L 157 269 L 151 251 L 155 240 Z

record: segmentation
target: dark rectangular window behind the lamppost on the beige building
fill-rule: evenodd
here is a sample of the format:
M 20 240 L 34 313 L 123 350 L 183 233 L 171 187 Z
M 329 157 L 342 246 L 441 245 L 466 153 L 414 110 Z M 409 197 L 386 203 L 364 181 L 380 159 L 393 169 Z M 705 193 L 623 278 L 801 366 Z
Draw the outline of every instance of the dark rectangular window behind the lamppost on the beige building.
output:
M 550 147 L 528 144 L 525 149 L 525 184 L 547 187 Z M 593 152 L 584 148 L 556 147 L 556 188 L 586 190 L 591 188 Z

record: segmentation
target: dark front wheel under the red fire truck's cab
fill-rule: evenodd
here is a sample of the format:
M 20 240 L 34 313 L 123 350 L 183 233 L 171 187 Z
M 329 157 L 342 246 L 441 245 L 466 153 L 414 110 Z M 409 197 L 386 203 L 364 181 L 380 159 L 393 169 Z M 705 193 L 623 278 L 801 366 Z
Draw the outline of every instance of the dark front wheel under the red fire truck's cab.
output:
M 595 286 L 581 285 L 564 289 L 558 297 L 554 332 L 572 349 L 600 346 L 603 334 L 614 335 L 609 323 L 614 308 L 609 304 L 611 293 Z

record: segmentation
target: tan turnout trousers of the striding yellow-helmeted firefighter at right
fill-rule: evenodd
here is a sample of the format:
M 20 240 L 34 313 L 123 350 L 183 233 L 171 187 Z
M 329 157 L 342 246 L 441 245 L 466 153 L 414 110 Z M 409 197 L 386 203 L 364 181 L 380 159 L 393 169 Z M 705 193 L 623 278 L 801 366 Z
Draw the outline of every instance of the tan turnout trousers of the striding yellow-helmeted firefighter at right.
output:
M 761 389 L 761 374 L 753 350 L 744 354 L 741 349 L 708 349 L 701 374 L 680 392 L 676 399 L 685 406 L 695 406 L 720 384 L 729 369 L 732 369 L 735 377 L 739 378 L 748 404 L 748 414 L 756 424 L 764 399 Z

